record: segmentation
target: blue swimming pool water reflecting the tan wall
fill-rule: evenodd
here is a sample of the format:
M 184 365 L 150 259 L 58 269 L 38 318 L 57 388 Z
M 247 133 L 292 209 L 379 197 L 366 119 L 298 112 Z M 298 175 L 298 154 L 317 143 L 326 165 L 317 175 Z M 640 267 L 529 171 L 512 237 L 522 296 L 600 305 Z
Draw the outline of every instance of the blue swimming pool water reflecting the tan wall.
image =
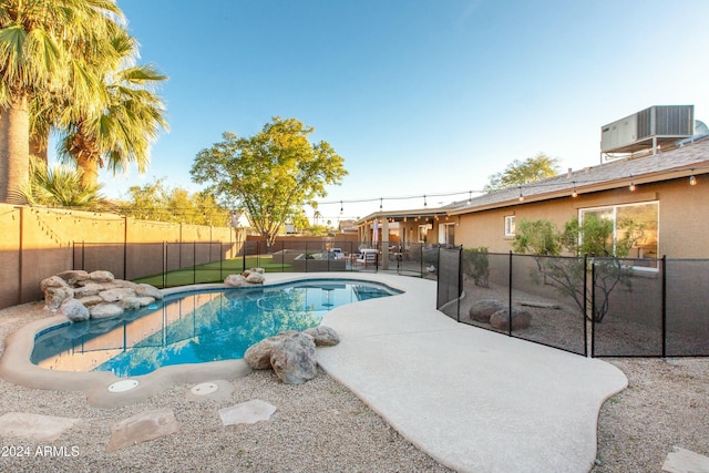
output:
M 133 377 L 169 364 L 240 359 L 265 338 L 319 326 L 335 307 L 397 294 L 345 279 L 179 292 L 120 318 L 44 330 L 31 360 L 53 370 Z

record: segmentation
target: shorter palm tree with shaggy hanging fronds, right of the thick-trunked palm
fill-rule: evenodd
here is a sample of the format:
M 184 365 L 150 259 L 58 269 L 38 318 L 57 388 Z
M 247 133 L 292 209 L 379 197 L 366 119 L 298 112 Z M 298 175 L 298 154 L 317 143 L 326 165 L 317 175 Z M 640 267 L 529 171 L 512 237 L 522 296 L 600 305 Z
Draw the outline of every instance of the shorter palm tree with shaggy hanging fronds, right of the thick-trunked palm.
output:
M 74 110 L 69 104 L 64 109 L 60 153 L 83 169 L 83 185 L 95 185 L 104 166 L 114 174 L 131 164 L 140 173 L 147 171 L 151 143 L 161 128 L 167 128 L 163 102 L 150 90 L 167 76 L 152 65 L 121 68 L 137 55 L 137 44 L 125 31 L 116 31 L 111 43 L 115 55 L 95 64 L 101 78 L 96 100 L 103 106 Z

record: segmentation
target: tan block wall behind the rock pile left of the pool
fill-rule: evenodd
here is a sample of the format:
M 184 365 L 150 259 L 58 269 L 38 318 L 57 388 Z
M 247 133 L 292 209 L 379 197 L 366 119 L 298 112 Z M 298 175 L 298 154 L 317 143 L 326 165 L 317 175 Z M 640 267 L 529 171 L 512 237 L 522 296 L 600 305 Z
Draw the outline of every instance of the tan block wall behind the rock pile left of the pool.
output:
M 8 204 L 0 204 L 0 308 L 41 299 L 39 282 L 65 269 L 101 268 L 126 279 L 161 273 L 164 241 L 184 246 L 173 251 L 182 254 L 183 266 L 238 250 L 229 245 L 233 228 Z

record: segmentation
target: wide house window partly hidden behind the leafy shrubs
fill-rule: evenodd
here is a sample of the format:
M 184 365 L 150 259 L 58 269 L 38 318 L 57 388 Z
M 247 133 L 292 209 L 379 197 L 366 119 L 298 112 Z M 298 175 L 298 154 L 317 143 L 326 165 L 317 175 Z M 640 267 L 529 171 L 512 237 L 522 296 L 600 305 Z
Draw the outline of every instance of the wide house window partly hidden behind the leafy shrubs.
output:
M 656 259 L 659 251 L 659 204 L 657 202 L 644 204 L 613 205 L 579 210 L 583 222 L 588 215 L 613 222 L 613 248 L 617 249 L 619 241 L 630 245 L 627 255 L 634 259 Z M 609 241 L 610 243 L 610 241 Z M 654 263 L 636 261 L 636 267 L 653 267 Z

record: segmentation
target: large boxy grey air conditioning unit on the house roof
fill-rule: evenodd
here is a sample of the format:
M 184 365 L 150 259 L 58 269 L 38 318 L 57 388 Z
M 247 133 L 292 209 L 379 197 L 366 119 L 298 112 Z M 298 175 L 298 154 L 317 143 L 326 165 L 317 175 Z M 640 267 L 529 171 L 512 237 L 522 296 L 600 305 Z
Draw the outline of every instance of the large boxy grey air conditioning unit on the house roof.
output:
M 600 152 L 636 153 L 695 134 L 695 105 L 655 105 L 600 127 Z

